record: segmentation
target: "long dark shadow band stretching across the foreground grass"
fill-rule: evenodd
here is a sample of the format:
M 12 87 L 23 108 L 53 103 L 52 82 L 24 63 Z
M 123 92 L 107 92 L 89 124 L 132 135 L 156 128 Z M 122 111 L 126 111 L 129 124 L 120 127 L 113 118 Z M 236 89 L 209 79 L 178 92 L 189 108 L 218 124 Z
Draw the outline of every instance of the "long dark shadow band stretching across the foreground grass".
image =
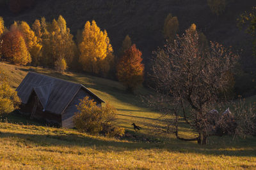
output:
M 239 157 L 256 157 L 255 138 L 250 142 L 250 146 L 241 146 L 241 144 L 232 146 L 199 146 L 196 143 L 179 142 L 173 143 L 129 143 L 122 141 L 105 141 L 99 138 L 90 138 L 82 134 L 68 134 L 65 131 L 52 131 L 55 134 L 22 134 L 14 132 L 0 132 L 0 138 L 14 138 L 24 141 L 26 145 L 35 146 L 81 146 L 92 147 L 95 150 L 105 150 L 106 152 L 124 152 L 124 150 L 138 149 L 159 149 L 169 152 L 179 153 L 198 153 L 207 155 L 227 155 Z M 230 149 L 232 148 L 232 149 Z

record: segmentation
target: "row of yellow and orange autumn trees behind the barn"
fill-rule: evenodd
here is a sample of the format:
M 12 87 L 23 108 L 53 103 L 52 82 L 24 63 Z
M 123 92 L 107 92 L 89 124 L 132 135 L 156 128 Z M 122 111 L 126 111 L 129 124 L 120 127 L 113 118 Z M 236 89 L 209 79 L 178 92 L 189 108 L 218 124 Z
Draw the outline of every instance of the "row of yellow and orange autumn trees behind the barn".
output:
M 76 42 L 62 16 L 51 23 L 43 17 L 31 27 L 14 22 L 10 29 L 0 18 L 0 39 L 1 58 L 13 64 L 55 67 L 60 72 L 71 67 L 104 77 L 112 73 L 129 91 L 143 82 L 142 53 L 131 38 L 125 37 L 120 57 L 115 57 L 107 31 L 101 31 L 94 20 L 86 22 Z

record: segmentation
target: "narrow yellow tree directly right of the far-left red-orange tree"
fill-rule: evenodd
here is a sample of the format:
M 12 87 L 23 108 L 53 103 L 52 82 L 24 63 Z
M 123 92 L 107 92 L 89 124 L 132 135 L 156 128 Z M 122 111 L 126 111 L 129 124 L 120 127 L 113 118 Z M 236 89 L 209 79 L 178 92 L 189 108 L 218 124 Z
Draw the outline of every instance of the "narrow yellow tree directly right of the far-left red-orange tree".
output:
M 19 24 L 19 30 L 24 37 L 26 46 L 32 58 L 32 64 L 37 66 L 40 60 L 40 52 L 42 44 L 40 40 L 36 37 L 35 32 L 29 27 L 28 23 L 22 21 Z

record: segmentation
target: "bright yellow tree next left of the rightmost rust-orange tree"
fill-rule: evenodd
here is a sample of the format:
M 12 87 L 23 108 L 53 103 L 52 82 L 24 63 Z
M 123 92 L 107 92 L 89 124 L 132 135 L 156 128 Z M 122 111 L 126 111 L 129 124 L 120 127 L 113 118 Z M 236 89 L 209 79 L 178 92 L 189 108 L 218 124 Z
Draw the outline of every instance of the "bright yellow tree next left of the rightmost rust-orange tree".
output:
M 79 61 L 83 65 L 83 70 L 95 74 L 108 73 L 110 67 L 108 60 L 112 60 L 113 48 L 109 42 L 107 31 L 100 31 L 93 20 L 92 24 L 89 21 L 86 22 L 82 36 L 82 41 L 79 44 Z

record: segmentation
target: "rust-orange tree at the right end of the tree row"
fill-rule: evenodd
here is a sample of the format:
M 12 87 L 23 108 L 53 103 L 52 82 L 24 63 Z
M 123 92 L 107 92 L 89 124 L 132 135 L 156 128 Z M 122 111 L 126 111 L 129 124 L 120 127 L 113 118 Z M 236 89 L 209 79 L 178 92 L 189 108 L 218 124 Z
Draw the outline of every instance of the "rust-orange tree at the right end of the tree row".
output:
M 125 51 L 116 66 L 117 78 L 129 92 L 133 92 L 138 85 L 143 83 L 144 65 L 141 63 L 141 55 L 142 53 L 136 48 L 136 45 L 132 45 Z

